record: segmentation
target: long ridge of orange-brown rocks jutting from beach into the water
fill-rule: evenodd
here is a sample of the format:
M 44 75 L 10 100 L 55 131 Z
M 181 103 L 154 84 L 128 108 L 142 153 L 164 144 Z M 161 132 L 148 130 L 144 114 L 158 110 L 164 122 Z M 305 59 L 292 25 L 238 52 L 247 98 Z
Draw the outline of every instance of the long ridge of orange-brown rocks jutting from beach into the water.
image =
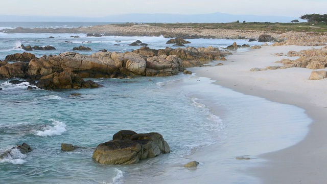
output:
M 148 47 L 133 52 L 98 52 L 82 55 L 66 52 L 36 58 L 29 54 L 14 54 L 8 60 L 25 62 L 0 62 L 0 79 L 22 78 L 39 80 L 43 89 L 98 87 L 83 78 L 131 78 L 133 76 L 172 76 L 184 67 L 201 66 L 213 60 L 224 60 L 229 52 L 213 47 L 185 49 L 160 49 Z M 30 61 L 28 61 L 30 59 Z

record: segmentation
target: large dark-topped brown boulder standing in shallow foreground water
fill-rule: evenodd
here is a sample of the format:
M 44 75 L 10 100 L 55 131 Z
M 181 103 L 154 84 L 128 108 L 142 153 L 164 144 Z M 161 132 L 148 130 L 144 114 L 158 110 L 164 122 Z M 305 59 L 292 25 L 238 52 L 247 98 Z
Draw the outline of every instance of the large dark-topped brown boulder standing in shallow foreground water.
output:
M 121 130 L 112 139 L 99 144 L 92 155 L 100 164 L 135 164 L 139 160 L 170 152 L 168 143 L 155 132 L 138 134 L 131 130 Z

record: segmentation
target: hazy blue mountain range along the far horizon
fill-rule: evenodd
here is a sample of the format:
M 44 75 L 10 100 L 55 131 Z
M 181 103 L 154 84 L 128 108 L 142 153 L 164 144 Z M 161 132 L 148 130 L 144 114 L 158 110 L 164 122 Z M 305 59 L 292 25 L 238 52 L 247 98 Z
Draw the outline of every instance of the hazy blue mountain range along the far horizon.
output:
M 258 15 L 232 15 L 226 13 L 210 13 L 210 14 L 143 14 L 131 13 L 121 15 L 110 15 L 105 17 L 73 17 L 73 16 L 17 16 L 17 15 L 0 15 L 0 21 L 83 21 L 83 22 L 233 22 L 239 20 L 240 22 L 290 22 L 298 19 L 297 17 L 286 16 L 258 16 Z

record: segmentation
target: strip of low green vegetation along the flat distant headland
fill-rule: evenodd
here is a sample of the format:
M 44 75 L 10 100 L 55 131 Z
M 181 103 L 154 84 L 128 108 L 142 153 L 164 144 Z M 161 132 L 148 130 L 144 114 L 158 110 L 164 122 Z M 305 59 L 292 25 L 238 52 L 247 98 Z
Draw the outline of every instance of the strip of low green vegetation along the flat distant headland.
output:
M 294 22 L 294 23 L 293 23 Z M 164 28 L 194 28 L 194 29 L 230 29 L 230 30 L 256 30 L 256 31 L 273 31 L 277 33 L 285 33 L 289 31 L 295 32 L 327 32 L 327 25 L 325 22 L 318 22 L 315 25 L 308 25 L 307 22 L 295 23 L 292 20 L 289 23 L 279 22 L 230 22 L 230 23 L 151 23 L 150 26 L 164 27 Z M 120 24 L 118 26 L 132 26 L 133 24 Z

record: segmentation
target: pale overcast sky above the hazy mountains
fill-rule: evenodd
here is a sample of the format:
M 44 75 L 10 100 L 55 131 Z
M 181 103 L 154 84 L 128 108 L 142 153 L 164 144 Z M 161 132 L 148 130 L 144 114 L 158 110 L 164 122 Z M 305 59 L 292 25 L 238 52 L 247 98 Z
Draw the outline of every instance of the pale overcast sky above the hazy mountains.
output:
M 327 0 L 1 0 L 0 15 L 104 17 L 127 13 L 327 14 Z

